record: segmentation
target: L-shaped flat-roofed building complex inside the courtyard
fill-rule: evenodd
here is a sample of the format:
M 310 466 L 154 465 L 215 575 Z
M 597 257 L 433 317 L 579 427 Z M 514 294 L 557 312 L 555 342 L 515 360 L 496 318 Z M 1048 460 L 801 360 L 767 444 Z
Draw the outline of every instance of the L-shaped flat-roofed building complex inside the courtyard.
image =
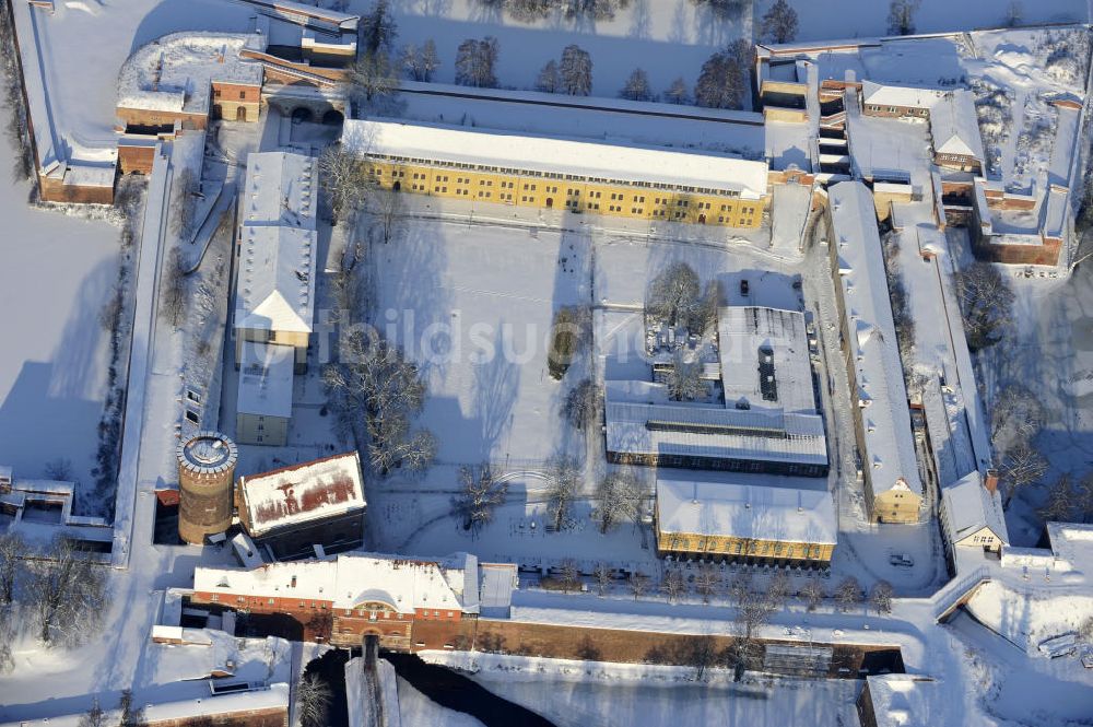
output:
M 607 456 L 618 464 L 824 477 L 804 316 L 718 309 L 720 403 L 670 401 L 661 384 L 606 384 Z

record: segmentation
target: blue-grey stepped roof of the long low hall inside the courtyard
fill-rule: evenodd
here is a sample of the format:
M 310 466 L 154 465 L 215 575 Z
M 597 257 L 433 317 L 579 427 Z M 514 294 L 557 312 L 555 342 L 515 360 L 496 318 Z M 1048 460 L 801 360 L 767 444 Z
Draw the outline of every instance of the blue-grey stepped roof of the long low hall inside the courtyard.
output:
M 815 414 L 635 403 L 613 400 L 610 389 L 607 400 L 609 452 L 827 464 L 823 420 Z

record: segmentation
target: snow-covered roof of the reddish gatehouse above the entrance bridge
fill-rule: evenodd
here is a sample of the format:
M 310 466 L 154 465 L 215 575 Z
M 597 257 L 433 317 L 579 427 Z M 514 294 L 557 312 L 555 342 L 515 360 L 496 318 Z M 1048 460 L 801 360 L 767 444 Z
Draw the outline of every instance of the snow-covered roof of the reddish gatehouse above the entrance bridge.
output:
M 468 583 L 474 584 L 472 603 L 463 598 Z M 270 563 L 252 571 L 193 571 L 193 589 L 201 593 L 322 600 L 345 609 L 379 600 L 399 613 L 468 611 L 468 607 L 477 612 L 477 584 L 478 561 L 466 553 L 442 560 L 344 553 L 337 560 Z

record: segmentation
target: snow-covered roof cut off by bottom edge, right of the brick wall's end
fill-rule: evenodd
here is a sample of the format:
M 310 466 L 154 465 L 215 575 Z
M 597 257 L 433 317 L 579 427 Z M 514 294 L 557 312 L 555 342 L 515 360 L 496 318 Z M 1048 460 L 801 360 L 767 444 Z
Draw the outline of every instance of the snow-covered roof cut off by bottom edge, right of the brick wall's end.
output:
M 941 681 L 915 675 L 867 677 L 877 727 L 935 727 L 965 724 L 963 701 Z

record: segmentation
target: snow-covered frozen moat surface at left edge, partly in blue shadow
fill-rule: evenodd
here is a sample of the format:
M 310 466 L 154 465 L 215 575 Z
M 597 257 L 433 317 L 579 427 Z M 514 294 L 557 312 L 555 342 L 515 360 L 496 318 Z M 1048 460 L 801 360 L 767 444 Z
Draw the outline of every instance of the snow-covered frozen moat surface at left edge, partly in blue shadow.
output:
M 12 165 L 3 140 L 0 169 Z M 117 282 L 119 230 L 27 207 L 27 191 L 0 194 L 0 464 L 33 478 L 63 458 L 90 485 L 109 365 L 98 314 Z

